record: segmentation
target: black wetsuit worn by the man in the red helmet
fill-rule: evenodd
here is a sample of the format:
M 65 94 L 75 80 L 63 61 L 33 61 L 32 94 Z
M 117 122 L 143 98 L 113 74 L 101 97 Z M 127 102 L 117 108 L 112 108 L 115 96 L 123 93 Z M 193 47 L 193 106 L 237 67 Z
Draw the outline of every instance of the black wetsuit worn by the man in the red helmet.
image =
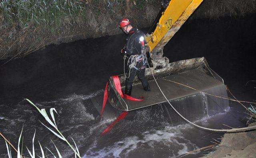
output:
M 142 39 L 143 39 L 143 42 L 140 41 Z M 132 55 L 138 55 L 138 57 L 135 58 L 137 61 L 136 61 L 136 65 L 133 68 L 129 67 L 129 65 L 132 63 L 131 59 L 128 61 L 126 74 L 127 76 L 129 76 L 129 72 L 130 72 L 130 76 L 129 78 L 126 78 L 126 83 L 125 83 L 125 94 L 127 94 L 128 96 L 131 95 L 132 82 L 136 75 L 140 79 L 144 90 L 150 91 L 150 86 L 148 84 L 148 81 L 145 78 L 145 68 L 146 68 L 147 60 L 146 60 L 146 53 L 142 51 L 143 43 L 146 44 L 146 41 L 144 39 L 144 33 L 138 29 L 132 28 L 129 31 L 128 38 L 126 39 L 126 55 L 128 57 Z

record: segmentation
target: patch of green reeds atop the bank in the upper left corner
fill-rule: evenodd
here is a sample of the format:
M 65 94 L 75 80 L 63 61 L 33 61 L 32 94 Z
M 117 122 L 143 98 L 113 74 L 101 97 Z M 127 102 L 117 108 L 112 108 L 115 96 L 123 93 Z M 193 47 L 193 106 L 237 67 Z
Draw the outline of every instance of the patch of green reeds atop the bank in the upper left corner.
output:
M 57 29 L 64 23 L 79 23 L 86 14 L 84 6 L 80 0 L 2 0 L 0 14 L 6 25 L 21 29 L 31 26 Z

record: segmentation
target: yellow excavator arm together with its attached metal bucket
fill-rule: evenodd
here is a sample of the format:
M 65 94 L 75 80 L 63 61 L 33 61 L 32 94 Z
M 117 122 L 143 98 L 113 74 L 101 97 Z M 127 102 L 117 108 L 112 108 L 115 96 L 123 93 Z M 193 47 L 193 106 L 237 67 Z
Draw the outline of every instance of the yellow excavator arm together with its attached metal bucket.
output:
M 133 82 L 131 97 L 134 100 L 134 98 L 143 96 L 144 100 L 128 100 L 126 99 L 127 96 L 122 93 L 125 88 L 125 75 L 119 75 L 120 84 L 119 80 L 117 82 L 116 76 L 110 77 L 106 88 L 108 95 L 106 96 L 114 108 L 127 112 L 160 105 L 158 107 L 163 109 L 164 115 L 170 118 L 169 120 L 173 125 L 181 123 L 183 120 L 178 117 L 174 110 L 170 109 L 168 104 L 165 104 L 166 98 L 181 115 L 190 121 L 214 115 L 228 108 L 228 99 L 225 98 L 228 95 L 224 81 L 208 66 L 204 57 L 172 63 L 169 63 L 168 58 L 163 57 L 163 48 L 166 43 L 170 41 L 202 1 L 162 1 L 162 8 L 145 37 L 153 65 L 153 68 L 146 68 L 145 72 L 151 92 L 144 91 L 140 80 L 136 77 Z M 151 73 L 154 74 L 156 81 Z M 104 103 L 106 103 L 105 95 L 104 98 Z

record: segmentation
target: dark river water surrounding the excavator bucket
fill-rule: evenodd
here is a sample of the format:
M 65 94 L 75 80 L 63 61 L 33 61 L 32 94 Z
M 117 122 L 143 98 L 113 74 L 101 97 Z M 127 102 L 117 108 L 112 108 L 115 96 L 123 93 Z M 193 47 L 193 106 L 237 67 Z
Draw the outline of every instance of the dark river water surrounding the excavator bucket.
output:
M 253 101 L 256 82 L 248 81 L 256 80 L 255 18 L 256 15 L 249 15 L 186 21 L 164 47 L 164 55 L 170 62 L 206 57 L 209 66 L 238 99 Z M 62 157 L 74 157 L 64 141 L 41 125 L 39 120 L 47 123 L 34 107 L 23 101 L 28 98 L 47 112 L 51 107 L 56 108 L 58 128 L 70 142 L 71 137 L 76 141 L 82 157 L 178 157 L 213 144 L 212 138 L 223 136 L 223 133 L 204 131 L 188 124 L 173 126 L 158 105 L 134 111 L 133 119 L 124 119 L 109 133 L 101 135 L 118 115 L 100 121 L 94 100 L 102 99 L 110 76 L 123 73 L 123 58 L 119 52 L 124 40 L 125 35 L 120 34 L 50 45 L 6 64 L 7 60 L 0 61 L 0 132 L 17 147 L 23 127 L 26 156 L 25 146 L 32 149 L 36 130 L 35 148 L 39 156 L 38 141 L 49 157 L 52 156 L 45 147 L 57 156 L 52 139 Z M 225 125 L 245 127 L 246 117 L 241 105 L 230 102 L 226 111 L 196 123 L 216 129 L 228 128 Z M 206 153 L 201 151 L 184 157 L 200 157 Z M 12 155 L 15 154 L 12 150 Z M 0 157 L 7 157 L 2 138 Z

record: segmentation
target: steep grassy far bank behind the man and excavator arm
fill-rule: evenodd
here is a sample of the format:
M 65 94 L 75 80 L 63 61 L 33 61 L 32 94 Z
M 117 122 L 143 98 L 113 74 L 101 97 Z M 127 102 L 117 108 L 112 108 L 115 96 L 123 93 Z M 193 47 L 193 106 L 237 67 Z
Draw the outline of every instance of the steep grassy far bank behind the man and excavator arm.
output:
M 204 0 L 190 19 L 239 18 L 255 12 L 255 0 Z M 22 57 L 46 45 L 121 33 L 118 21 L 149 27 L 160 0 L 56 0 L 0 2 L 0 59 Z

